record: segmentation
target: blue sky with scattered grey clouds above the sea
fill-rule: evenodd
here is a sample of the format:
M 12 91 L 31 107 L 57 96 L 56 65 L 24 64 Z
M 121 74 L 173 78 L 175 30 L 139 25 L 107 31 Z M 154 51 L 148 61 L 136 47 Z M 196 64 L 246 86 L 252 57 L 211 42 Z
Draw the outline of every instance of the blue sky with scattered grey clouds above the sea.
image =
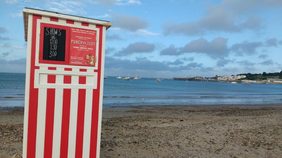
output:
M 1 0 L 0 72 L 26 71 L 24 7 L 112 22 L 106 32 L 107 76 L 282 70 L 281 0 Z

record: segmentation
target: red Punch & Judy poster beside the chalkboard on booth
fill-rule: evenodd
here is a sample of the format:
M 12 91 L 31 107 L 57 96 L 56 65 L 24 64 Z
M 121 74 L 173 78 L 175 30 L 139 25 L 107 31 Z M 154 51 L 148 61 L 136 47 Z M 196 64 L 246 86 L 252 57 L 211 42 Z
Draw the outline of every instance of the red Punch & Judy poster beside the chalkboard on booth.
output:
M 70 65 L 92 66 L 96 63 L 97 31 L 70 27 Z

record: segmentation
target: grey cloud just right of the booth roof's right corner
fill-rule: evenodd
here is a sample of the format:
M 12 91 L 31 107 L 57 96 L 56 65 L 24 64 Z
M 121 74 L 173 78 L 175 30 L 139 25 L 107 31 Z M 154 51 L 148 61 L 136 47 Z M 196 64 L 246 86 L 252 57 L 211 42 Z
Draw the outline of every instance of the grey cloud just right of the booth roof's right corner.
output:
M 112 20 L 112 23 L 115 24 L 115 27 L 120 27 L 121 29 L 131 32 L 144 29 L 148 27 L 149 24 L 147 20 L 144 20 L 141 17 L 134 17 L 130 15 L 116 17 Z

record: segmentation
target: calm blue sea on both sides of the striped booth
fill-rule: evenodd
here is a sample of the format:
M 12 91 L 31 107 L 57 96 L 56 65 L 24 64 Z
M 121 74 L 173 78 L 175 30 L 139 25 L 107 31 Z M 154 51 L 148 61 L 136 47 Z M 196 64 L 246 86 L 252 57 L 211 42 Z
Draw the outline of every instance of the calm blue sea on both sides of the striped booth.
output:
M 24 106 L 25 74 L 0 73 L 0 106 Z M 104 79 L 103 106 L 282 103 L 282 85 Z

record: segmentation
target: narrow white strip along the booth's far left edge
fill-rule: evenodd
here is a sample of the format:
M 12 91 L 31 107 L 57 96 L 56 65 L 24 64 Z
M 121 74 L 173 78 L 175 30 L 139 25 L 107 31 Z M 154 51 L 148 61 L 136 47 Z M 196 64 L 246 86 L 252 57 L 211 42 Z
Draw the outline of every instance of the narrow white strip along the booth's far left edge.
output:
M 32 30 L 32 18 L 29 14 L 28 30 Z M 25 74 L 25 95 L 24 95 L 24 138 L 23 138 L 23 158 L 27 156 L 27 134 L 28 134 L 28 121 L 29 121 L 29 81 L 30 81 L 30 63 L 31 63 L 31 42 L 32 31 L 28 32 L 27 37 L 27 55 L 26 55 L 26 74 Z

